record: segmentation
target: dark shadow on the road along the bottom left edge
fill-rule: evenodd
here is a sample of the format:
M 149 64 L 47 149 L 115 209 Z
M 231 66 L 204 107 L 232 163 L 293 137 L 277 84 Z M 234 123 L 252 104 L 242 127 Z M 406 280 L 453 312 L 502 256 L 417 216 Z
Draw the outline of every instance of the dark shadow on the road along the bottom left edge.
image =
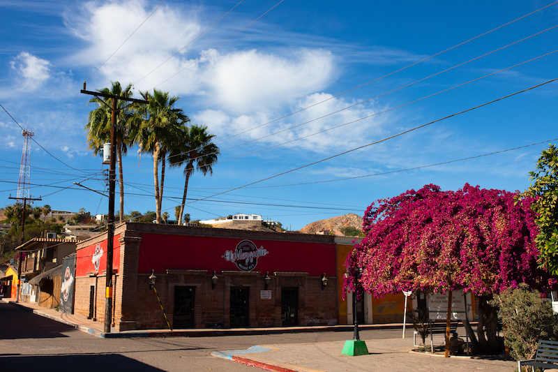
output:
M 80 371 L 98 372 L 105 368 L 115 371 L 161 372 L 135 359 L 118 354 L 104 355 L 26 355 L 20 357 L 0 356 L 0 365 L 6 371 Z

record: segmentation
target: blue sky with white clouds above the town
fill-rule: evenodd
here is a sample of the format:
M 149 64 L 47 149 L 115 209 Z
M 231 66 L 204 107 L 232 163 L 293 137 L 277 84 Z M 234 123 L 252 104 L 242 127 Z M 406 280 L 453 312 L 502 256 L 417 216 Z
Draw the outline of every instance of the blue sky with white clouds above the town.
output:
M 188 197 L 205 198 L 188 200 L 195 219 L 255 213 L 298 230 L 425 184 L 529 186 L 558 137 L 558 82 L 385 139 L 558 77 L 558 4 L 278 2 L 0 0 L 0 104 L 52 154 L 31 142 L 36 204 L 107 213 L 106 198 L 73 186 L 106 188 L 83 131 L 94 108 L 84 80 L 88 90 L 134 84 L 136 97 L 169 91 L 216 134 L 213 176 L 190 179 Z M 3 110 L 0 131 L 6 205 L 23 137 Z M 154 210 L 151 157 L 133 148 L 123 166 L 126 213 Z M 163 209 L 174 216 L 183 174 L 166 177 Z

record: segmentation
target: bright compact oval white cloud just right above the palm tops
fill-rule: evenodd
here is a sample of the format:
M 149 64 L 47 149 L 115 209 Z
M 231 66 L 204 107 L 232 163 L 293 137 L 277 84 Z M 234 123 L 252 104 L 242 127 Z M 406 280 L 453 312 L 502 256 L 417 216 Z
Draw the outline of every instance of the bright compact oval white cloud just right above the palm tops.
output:
M 202 81 L 216 106 L 230 112 L 274 109 L 319 91 L 331 82 L 333 57 L 326 50 L 264 54 L 257 50 L 211 54 Z M 204 65 L 205 66 L 205 65 Z

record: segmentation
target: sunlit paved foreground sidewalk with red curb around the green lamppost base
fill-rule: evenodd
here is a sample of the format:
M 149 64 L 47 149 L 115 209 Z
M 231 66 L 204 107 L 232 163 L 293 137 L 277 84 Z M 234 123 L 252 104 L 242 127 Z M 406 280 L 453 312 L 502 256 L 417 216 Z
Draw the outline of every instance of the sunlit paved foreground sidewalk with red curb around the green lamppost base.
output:
M 215 352 L 213 355 L 280 372 L 512 372 L 517 368 L 517 362 L 513 361 L 472 357 L 444 358 L 443 355 L 428 352 L 412 352 L 412 341 L 409 343 L 409 338 L 365 341 L 369 354 L 360 357 L 341 354 L 345 341 L 259 345 L 248 350 Z M 443 343 L 443 336 L 438 341 Z

